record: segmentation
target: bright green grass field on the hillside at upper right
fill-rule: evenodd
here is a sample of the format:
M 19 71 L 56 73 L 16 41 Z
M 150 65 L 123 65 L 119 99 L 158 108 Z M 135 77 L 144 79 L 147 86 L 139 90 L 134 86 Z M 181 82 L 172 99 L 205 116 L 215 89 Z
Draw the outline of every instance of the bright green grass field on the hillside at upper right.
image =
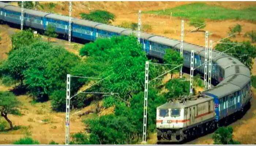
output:
M 207 5 L 204 3 L 192 3 L 180 5 L 175 8 L 144 11 L 143 13 L 170 15 L 181 18 L 204 18 L 211 20 L 249 20 L 256 21 L 256 7 L 249 7 L 245 9 L 229 9 L 221 6 Z

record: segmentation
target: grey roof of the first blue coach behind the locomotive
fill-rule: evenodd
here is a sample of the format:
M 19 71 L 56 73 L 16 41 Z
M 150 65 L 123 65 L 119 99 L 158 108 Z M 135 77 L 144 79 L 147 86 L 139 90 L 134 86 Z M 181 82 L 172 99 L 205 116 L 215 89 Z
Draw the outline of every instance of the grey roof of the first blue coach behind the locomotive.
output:
M 222 83 L 203 93 L 210 93 L 210 95 L 215 95 L 218 99 L 220 99 L 239 90 L 241 90 L 241 88 L 238 85 L 234 85 L 231 83 Z

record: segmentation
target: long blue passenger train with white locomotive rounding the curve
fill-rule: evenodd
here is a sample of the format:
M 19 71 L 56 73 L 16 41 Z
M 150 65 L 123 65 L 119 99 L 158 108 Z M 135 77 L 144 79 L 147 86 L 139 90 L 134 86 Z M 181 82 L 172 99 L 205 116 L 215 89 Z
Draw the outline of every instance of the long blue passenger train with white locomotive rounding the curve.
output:
M 24 9 L 23 26 L 44 32 L 47 26 L 56 27 L 56 33 L 68 38 L 69 17 L 32 9 Z M 21 8 L 0 2 L 0 22 L 10 25 L 21 24 Z M 95 41 L 97 38 L 110 38 L 118 35 L 138 35 L 137 31 L 108 24 L 71 19 L 71 38 Z M 180 52 L 181 41 L 146 32 L 140 33 L 142 51 L 149 57 L 163 59 L 167 49 Z M 195 72 L 204 73 L 203 46 L 183 43 L 184 69 L 191 65 L 191 51 L 194 50 Z M 207 54 L 208 55 L 208 54 Z M 244 111 L 252 98 L 251 73 L 237 58 L 212 50 L 211 84 L 217 85 L 202 92 L 201 97 L 186 100 L 185 103 L 167 102 L 157 108 L 157 130 L 159 142 L 182 141 L 196 135 L 197 131 L 218 127 L 230 116 Z M 164 111 L 165 110 L 165 111 Z M 162 114 L 168 113 L 165 116 Z M 172 115 L 175 113 L 177 115 Z M 166 123 L 167 122 L 167 123 Z M 198 130 L 200 129 L 200 130 Z

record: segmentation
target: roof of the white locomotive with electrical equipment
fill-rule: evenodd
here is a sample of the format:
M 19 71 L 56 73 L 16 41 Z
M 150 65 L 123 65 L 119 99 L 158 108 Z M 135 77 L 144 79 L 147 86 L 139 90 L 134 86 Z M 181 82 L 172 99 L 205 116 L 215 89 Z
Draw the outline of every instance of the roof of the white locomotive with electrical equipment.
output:
M 199 97 L 196 100 L 187 100 L 184 104 L 180 103 L 180 102 L 167 102 L 163 105 L 160 105 L 159 107 L 157 107 L 157 109 L 166 109 L 166 108 L 185 108 L 185 107 L 191 107 L 193 105 L 197 105 L 200 103 L 204 103 L 206 101 L 210 101 L 212 100 L 211 97 Z

